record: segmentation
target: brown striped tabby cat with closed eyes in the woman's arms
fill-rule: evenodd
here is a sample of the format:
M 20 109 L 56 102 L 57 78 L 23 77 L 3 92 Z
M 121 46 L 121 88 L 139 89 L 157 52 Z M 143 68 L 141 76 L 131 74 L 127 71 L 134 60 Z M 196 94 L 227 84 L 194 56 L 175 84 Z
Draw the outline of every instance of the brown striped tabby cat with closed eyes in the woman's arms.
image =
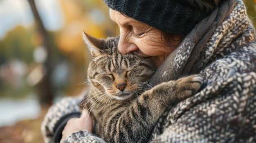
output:
M 83 39 L 92 54 L 90 94 L 83 108 L 92 116 L 92 132 L 107 143 L 147 142 L 164 110 L 195 94 L 202 84 L 199 76 L 191 75 L 143 92 L 155 70 L 149 59 L 119 53 L 119 37 L 103 40 L 83 33 Z

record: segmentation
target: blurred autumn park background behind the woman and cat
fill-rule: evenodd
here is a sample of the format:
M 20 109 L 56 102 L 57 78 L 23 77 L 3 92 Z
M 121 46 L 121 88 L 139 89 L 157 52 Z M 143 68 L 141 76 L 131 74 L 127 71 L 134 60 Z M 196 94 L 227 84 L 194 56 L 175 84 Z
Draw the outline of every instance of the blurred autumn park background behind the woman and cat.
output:
M 256 22 L 256 0 L 245 0 Z M 49 106 L 85 87 L 85 31 L 119 35 L 103 0 L 0 0 L 0 142 L 43 143 Z

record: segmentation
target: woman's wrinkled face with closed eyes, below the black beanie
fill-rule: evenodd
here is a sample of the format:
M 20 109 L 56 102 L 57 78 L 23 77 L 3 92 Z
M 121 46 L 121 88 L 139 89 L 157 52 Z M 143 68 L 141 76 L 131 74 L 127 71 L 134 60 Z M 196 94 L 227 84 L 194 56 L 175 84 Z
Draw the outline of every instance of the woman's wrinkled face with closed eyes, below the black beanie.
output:
M 157 68 L 176 47 L 165 46 L 162 32 L 122 13 L 110 9 L 110 18 L 120 27 L 118 50 L 122 54 L 137 51 L 150 58 Z

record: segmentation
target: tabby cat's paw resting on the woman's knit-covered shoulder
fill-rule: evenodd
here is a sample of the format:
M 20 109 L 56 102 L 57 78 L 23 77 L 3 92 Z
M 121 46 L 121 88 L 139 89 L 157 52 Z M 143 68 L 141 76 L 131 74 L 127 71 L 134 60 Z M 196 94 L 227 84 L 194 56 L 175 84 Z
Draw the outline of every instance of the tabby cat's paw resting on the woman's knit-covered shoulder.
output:
M 186 99 L 195 95 L 203 84 L 203 78 L 198 75 L 190 75 L 177 79 L 175 90 L 180 99 Z

